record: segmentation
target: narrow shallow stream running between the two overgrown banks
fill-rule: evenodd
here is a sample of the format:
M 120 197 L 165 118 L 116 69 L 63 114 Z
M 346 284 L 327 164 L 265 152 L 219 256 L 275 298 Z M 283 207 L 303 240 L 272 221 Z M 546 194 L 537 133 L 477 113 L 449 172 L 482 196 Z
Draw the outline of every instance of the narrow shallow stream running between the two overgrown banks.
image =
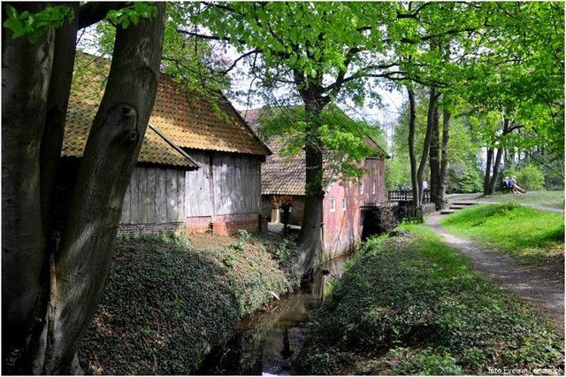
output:
M 317 308 L 330 281 L 343 273 L 351 256 L 326 262 L 314 281 L 294 294 L 281 296 L 264 311 L 242 319 L 236 335 L 223 350 L 214 351 L 202 374 L 289 375 L 302 346 L 300 324 Z

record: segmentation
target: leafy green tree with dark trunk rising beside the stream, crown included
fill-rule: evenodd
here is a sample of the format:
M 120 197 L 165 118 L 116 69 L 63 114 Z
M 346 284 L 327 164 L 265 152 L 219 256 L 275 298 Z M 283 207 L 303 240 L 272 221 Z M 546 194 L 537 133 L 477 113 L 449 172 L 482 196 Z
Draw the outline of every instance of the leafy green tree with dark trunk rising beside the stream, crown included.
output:
M 421 74 L 421 60 L 399 57 L 418 52 L 421 43 L 436 35 L 465 32 L 463 12 L 455 19 L 448 7 L 432 3 L 213 3 L 191 4 L 191 21 L 210 35 L 184 30 L 186 35 L 226 41 L 245 56 L 255 56 L 251 73 L 267 96 L 280 88 L 300 101 L 307 121 L 303 141 L 307 167 L 300 265 L 308 274 L 320 259 L 323 191 L 321 113 L 346 96 L 363 104 L 371 93 L 370 79 L 400 82 L 433 81 Z M 458 5 L 465 9 L 468 5 Z M 446 9 L 444 9 L 446 8 Z M 434 20 L 422 34 L 419 18 Z M 340 26 L 340 27 L 337 27 Z M 427 57 L 429 55 L 426 55 Z M 435 65 L 440 66 L 440 65 Z M 279 102 L 279 101 L 278 101 Z M 302 127 L 302 126 L 301 126 Z

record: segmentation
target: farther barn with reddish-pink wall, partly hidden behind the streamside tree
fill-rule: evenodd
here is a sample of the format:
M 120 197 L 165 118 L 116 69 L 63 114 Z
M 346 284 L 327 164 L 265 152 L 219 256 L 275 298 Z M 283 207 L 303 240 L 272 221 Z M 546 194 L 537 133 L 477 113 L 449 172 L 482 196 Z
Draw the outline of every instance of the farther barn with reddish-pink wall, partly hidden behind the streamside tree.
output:
M 242 112 L 242 117 L 257 130 L 261 127 L 262 109 Z M 361 207 L 369 203 L 386 201 L 385 150 L 370 137 L 367 142 L 376 151 L 375 155 L 365 158 L 365 175 L 362 182 L 340 181 L 337 175 L 325 188 L 323 202 L 323 258 L 331 259 L 356 247 L 362 236 L 363 213 Z M 304 208 L 305 159 L 304 153 L 293 158 L 286 158 L 279 153 L 280 143 L 269 144 L 273 154 L 262 165 L 262 212 L 272 222 L 279 222 L 280 213 L 277 199 L 280 196 L 292 196 L 290 223 L 301 225 Z M 328 172 L 326 172 L 328 173 Z M 331 172 L 332 174 L 332 172 Z M 275 204 L 275 205 L 274 205 Z

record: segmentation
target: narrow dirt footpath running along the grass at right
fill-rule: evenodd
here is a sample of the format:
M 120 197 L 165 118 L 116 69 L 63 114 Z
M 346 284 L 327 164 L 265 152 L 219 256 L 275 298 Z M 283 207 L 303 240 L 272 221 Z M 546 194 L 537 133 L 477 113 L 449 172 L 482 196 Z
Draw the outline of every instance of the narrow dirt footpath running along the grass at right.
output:
M 442 217 L 439 212 L 434 212 L 426 218 L 426 224 L 445 242 L 470 258 L 476 270 L 488 275 L 502 288 L 538 304 L 556 325 L 564 327 L 564 281 L 535 268 L 517 265 L 505 255 L 490 252 L 475 242 L 447 233 L 439 223 Z

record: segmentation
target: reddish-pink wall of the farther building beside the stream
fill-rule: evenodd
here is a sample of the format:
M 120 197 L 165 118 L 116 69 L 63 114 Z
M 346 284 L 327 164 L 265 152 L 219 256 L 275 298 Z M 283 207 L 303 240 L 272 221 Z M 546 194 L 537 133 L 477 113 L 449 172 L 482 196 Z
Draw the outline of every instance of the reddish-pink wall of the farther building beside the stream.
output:
M 331 259 L 353 250 L 362 236 L 362 212 L 360 207 L 368 202 L 386 200 L 384 160 L 367 159 L 367 173 L 363 176 L 363 192 L 360 185 L 334 182 L 323 201 L 323 259 Z M 332 202 L 334 199 L 334 212 Z M 345 199 L 346 208 L 343 208 Z

